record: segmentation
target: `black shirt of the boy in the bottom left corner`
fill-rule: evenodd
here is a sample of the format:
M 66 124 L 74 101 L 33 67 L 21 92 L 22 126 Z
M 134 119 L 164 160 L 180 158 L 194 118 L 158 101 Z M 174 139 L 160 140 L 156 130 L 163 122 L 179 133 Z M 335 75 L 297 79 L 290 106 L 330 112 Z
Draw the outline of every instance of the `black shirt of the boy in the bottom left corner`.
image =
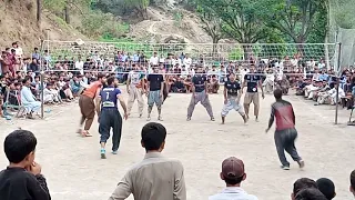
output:
M 33 176 L 23 168 L 7 168 L 0 172 L 1 200 L 50 200 L 42 176 Z

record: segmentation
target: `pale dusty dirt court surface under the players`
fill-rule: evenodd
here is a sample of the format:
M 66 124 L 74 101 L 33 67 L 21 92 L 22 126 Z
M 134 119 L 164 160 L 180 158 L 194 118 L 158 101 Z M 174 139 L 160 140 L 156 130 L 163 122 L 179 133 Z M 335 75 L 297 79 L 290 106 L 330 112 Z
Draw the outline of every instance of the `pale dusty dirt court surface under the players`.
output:
M 349 111 L 341 110 L 342 124 L 334 126 L 333 108 L 314 107 L 302 98 L 286 97 L 294 104 L 300 133 L 296 147 L 306 167 L 301 171 L 292 162 L 290 171 L 282 171 L 273 129 L 268 134 L 264 132 L 270 104 L 274 101 L 272 96 L 262 101 L 260 122 L 251 120 L 248 126 L 243 124 L 235 111 L 227 116 L 225 126 L 220 124 L 222 94 L 210 96 L 217 121 L 210 121 L 205 109 L 197 104 L 192 121 L 186 122 L 190 97 L 172 94 L 163 106 L 162 122 L 169 132 L 164 154 L 182 161 L 187 199 L 207 199 L 224 187 L 219 173 L 221 162 L 230 156 L 244 160 L 247 179 L 242 187 L 261 200 L 290 199 L 293 182 L 302 177 L 331 178 L 336 186 L 336 199 L 352 198 L 348 176 L 355 169 L 355 127 L 345 126 Z M 136 104 L 133 110 L 135 112 L 123 124 L 119 154 L 108 154 L 106 160 L 100 159 L 97 123 L 91 128 L 93 138 L 80 138 L 75 133 L 80 117 L 77 103 L 53 108 L 45 120 L 1 120 L 0 139 L 2 143 L 17 127 L 36 133 L 39 142 L 37 161 L 42 164 L 53 200 L 105 200 L 126 170 L 144 157 L 140 131 L 146 121 L 138 118 Z M 154 108 L 152 121 L 156 117 Z M 7 166 L 2 144 L 0 166 Z

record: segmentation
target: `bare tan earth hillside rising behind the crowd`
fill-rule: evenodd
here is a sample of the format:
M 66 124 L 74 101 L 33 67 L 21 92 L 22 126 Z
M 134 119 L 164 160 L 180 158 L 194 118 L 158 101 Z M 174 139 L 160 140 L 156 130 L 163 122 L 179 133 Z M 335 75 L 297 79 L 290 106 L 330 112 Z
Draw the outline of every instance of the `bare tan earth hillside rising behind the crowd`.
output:
M 40 31 L 36 22 L 36 0 L 4 0 L 0 1 L 0 46 L 2 49 L 9 47 L 13 41 L 20 41 L 24 51 L 30 52 L 32 48 L 40 46 L 41 39 L 47 39 L 47 32 L 51 40 L 100 39 L 84 36 L 79 31 L 83 14 L 78 14 L 78 12 L 72 12 L 71 24 L 67 24 L 61 18 L 43 9 L 42 30 Z M 123 23 L 119 20 L 116 19 L 118 23 Z M 146 20 L 131 22 L 128 26 L 129 29 L 124 37 L 136 42 L 211 42 L 210 37 L 199 26 L 199 18 L 183 9 L 149 7 Z

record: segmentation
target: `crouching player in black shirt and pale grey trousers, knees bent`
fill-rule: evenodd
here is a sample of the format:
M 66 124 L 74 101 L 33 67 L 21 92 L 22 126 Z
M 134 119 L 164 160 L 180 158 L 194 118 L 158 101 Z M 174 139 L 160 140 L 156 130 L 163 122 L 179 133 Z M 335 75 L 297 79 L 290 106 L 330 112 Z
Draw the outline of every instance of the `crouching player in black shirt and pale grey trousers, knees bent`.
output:
M 235 74 L 233 72 L 231 72 L 229 80 L 224 83 L 224 92 L 223 92 L 224 106 L 223 106 L 222 113 L 221 113 L 222 124 L 224 124 L 225 117 L 232 109 L 234 109 L 235 111 L 237 111 L 242 116 L 244 123 L 247 122 L 244 109 L 240 104 L 242 92 L 239 92 L 239 91 L 241 89 L 242 89 L 241 84 L 235 79 Z

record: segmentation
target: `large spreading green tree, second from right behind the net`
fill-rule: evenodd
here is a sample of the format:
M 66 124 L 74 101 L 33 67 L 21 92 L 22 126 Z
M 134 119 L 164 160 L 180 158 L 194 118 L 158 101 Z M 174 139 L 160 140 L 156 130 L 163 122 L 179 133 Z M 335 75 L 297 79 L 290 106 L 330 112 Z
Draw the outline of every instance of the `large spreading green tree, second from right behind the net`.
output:
M 268 28 L 262 22 L 264 10 L 261 0 L 200 0 L 222 20 L 222 30 L 229 37 L 242 43 L 244 59 L 252 54 L 251 43 L 267 37 Z

